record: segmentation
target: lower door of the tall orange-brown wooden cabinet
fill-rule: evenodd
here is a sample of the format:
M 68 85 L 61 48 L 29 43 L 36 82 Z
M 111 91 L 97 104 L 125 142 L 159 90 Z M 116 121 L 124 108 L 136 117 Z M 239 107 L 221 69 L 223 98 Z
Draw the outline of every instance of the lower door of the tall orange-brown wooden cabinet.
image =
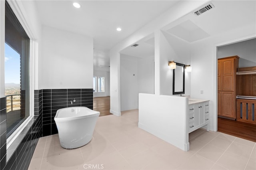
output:
M 236 118 L 234 92 L 221 92 L 221 116 Z

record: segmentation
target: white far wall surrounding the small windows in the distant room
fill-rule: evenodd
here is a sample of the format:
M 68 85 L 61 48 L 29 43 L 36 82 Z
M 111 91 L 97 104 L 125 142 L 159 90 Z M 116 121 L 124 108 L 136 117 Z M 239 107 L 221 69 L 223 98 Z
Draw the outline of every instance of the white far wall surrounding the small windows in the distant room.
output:
M 99 71 L 94 70 L 93 76 L 105 77 L 105 92 L 94 92 L 93 97 L 105 97 L 110 95 L 110 72 L 109 71 Z M 98 81 L 98 80 L 96 80 Z

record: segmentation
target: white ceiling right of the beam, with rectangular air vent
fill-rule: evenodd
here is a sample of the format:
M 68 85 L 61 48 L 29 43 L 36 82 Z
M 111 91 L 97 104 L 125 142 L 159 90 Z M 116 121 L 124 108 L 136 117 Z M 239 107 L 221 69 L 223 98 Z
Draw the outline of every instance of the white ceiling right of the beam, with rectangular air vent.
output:
M 253 29 L 256 30 L 255 0 L 214 0 L 211 2 L 215 8 L 204 12 L 200 16 L 196 16 L 193 12 L 190 12 L 186 16 L 162 28 L 166 32 L 166 39 L 177 53 L 189 52 L 189 47 L 183 47 L 190 43 L 216 36 L 248 24 L 254 25 Z M 146 41 L 143 42 L 143 40 L 136 43 L 140 44 L 143 48 L 138 48 L 140 45 L 136 47 L 138 48 L 136 50 L 133 47 L 126 47 L 121 53 L 135 57 L 154 55 L 154 45 L 144 45 Z M 149 54 L 149 51 L 152 53 Z

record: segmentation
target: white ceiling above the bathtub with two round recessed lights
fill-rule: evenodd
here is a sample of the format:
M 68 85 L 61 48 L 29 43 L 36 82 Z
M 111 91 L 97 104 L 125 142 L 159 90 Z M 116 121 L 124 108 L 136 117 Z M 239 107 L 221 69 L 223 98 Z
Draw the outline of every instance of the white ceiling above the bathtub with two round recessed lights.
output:
M 94 39 L 94 69 L 109 70 L 108 50 L 168 10 L 175 0 L 36 0 L 43 25 Z M 117 32 L 116 28 L 122 28 Z

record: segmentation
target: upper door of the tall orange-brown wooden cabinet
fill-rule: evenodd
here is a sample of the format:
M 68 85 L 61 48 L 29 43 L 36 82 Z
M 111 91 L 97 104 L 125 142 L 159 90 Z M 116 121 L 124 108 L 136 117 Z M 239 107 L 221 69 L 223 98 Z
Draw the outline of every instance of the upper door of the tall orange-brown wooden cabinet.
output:
M 224 60 L 222 62 L 222 87 L 224 91 L 234 91 L 234 59 Z

